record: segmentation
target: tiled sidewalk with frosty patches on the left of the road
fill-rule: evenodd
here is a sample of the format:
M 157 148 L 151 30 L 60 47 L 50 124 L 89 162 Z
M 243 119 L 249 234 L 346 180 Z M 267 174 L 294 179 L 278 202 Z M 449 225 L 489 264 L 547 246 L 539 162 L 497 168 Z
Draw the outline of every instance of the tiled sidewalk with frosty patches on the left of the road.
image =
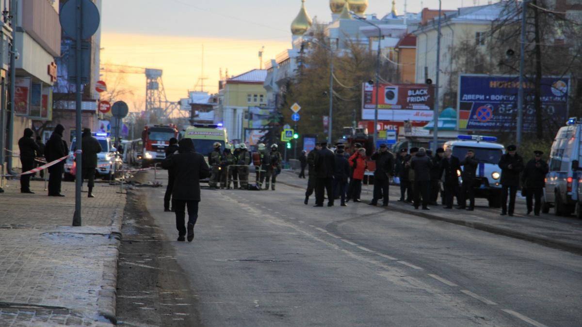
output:
M 84 325 L 115 322 L 115 287 L 125 194 L 95 183 L 81 193 L 82 227 L 72 227 L 74 183 L 66 197 L 21 194 L 10 180 L 0 194 L 0 326 Z

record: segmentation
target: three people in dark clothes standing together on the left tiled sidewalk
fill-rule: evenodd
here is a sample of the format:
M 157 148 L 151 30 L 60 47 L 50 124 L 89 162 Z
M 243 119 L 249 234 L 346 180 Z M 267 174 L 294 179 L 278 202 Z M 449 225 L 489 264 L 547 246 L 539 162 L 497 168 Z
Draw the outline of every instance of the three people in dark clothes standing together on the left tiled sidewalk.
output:
M 34 131 L 30 128 L 24 129 L 23 137 L 18 140 L 20 150 L 20 163 L 22 171 L 27 172 L 40 165 L 39 158 L 44 157 L 47 162 L 52 162 L 65 157 L 68 153 L 68 145 L 63 140 L 65 127 L 56 125 L 47 144 L 42 144 L 41 138 L 33 139 Z M 83 155 L 81 157 L 81 177 L 88 179 L 88 197 L 94 198 L 93 187 L 95 186 L 95 169 L 97 169 L 97 154 L 101 152 L 101 145 L 91 134 L 91 129 L 84 129 L 81 140 Z M 64 197 L 61 193 L 62 175 L 65 170 L 65 161 L 57 162 L 48 168 L 48 196 Z M 41 170 L 41 177 L 44 172 Z M 30 190 L 30 177 L 33 174 L 20 176 L 20 193 L 34 194 Z

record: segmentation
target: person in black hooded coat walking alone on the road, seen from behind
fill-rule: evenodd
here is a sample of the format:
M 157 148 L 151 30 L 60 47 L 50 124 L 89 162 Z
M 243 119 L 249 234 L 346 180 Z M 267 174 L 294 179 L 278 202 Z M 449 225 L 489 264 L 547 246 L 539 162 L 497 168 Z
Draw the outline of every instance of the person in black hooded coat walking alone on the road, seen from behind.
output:
M 178 154 L 173 154 L 162 162 L 162 167 L 173 170 L 175 183 L 172 189 L 174 210 L 176 212 L 176 229 L 178 241 L 184 241 L 188 232 L 188 241 L 194 239 L 194 225 L 198 220 L 200 203 L 200 180 L 210 176 L 210 169 L 204 156 L 194 152 L 194 143 L 190 138 L 182 138 L 178 143 Z M 188 227 L 184 227 L 185 209 L 188 208 Z

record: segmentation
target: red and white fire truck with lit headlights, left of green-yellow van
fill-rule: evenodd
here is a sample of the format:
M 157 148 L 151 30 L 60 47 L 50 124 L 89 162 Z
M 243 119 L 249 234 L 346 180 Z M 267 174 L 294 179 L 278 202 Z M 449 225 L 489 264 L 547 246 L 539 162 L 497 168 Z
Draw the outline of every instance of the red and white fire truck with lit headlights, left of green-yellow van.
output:
M 170 138 L 178 138 L 178 127 L 176 124 L 168 125 L 146 125 L 141 132 L 143 141 L 143 167 L 150 166 L 155 162 L 162 162 L 166 158 L 166 147 L 170 144 Z

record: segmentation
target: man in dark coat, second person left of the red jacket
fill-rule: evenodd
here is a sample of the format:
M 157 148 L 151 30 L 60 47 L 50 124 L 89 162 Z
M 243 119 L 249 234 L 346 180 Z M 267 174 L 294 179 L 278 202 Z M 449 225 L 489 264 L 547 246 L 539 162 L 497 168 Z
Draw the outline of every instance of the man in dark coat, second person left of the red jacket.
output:
M 327 142 L 321 143 L 321 150 L 315 156 L 315 205 L 324 206 L 324 191 L 328 195 L 328 207 L 333 206 L 333 173 L 335 172 L 335 155 L 327 147 Z

